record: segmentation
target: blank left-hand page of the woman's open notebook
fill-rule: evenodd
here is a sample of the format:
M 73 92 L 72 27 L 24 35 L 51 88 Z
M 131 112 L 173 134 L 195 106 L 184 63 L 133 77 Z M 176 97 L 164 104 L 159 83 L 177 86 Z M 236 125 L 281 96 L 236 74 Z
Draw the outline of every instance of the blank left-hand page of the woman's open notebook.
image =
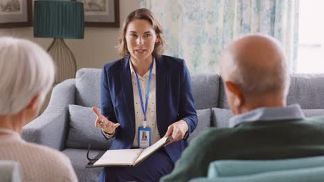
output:
M 93 165 L 132 165 L 141 150 L 143 149 L 107 150 Z

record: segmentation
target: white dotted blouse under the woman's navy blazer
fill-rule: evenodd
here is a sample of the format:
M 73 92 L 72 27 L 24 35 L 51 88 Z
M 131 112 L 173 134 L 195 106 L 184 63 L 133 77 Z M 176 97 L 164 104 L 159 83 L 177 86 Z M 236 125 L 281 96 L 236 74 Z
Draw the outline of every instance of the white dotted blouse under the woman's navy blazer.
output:
M 151 78 L 151 85 L 150 85 L 150 92 L 149 92 L 149 101 L 147 103 L 147 112 L 146 112 L 146 120 L 147 120 L 147 127 L 150 127 L 152 130 L 151 133 L 151 144 L 156 143 L 161 139 L 159 134 L 159 130 L 156 125 L 156 63 L 155 59 L 153 60 L 153 68 L 152 68 L 152 78 Z M 143 126 L 144 121 L 144 114 L 141 108 L 141 99 L 138 94 L 138 86 L 136 80 L 136 74 L 134 72 L 134 68 L 132 66 L 132 62 L 129 61 L 129 67 L 132 75 L 132 84 L 133 84 L 133 94 L 134 94 L 134 112 L 135 112 L 135 138 L 133 141 L 133 147 L 138 147 L 138 127 Z M 147 83 L 150 75 L 150 70 L 148 70 L 143 77 L 138 75 L 138 79 L 141 85 L 141 94 L 143 98 L 143 104 L 145 108 L 145 94 L 147 92 Z

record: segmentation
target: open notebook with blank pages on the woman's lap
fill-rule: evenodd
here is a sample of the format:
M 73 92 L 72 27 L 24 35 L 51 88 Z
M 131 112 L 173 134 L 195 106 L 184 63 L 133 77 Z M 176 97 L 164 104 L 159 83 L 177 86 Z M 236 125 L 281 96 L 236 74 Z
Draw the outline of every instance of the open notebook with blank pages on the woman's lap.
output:
M 122 150 L 107 150 L 96 163 L 93 163 L 93 167 L 101 166 L 136 166 L 141 163 L 148 156 L 153 154 L 156 150 L 163 147 L 171 139 L 171 136 L 163 137 L 159 141 L 156 141 L 148 148 L 138 149 L 122 149 Z

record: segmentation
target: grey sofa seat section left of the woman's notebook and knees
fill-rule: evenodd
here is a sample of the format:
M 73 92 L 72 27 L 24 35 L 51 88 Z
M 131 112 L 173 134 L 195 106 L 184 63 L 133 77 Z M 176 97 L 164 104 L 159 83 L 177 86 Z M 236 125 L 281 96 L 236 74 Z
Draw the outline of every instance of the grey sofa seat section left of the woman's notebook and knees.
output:
M 99 154 L 99 152 L 104 151 L 105 150 L 91 150 L 89 152 L 89 157 L 93 159 L 96 155 Z M 75 170 L 75 174 L 77 174 L 79 181 L 98 181 L 100 170 L 102 170 L 102 168 L 84 169 L 84 167 L 89 162 L 87 159 L 87 150 L 67 148 L 62 152 L 66 154 L 66 156 L 69 156 L 69 159 L 71 160 L 73 169 Z

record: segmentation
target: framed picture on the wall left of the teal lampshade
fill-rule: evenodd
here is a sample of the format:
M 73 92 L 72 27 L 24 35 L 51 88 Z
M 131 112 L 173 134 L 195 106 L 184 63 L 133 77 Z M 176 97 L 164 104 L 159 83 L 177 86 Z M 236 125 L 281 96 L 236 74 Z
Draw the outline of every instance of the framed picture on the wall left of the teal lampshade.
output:
M 33 0 L 0 0 L 0 28 L 33 26 Z

